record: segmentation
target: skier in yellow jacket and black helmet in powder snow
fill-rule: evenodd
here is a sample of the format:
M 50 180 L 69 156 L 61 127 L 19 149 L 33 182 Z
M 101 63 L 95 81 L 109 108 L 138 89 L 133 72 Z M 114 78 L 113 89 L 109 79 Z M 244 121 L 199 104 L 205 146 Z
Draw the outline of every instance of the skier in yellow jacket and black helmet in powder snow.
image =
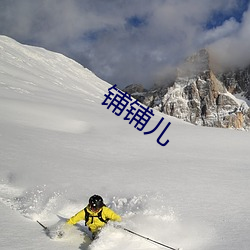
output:
M 85 220 L 85 226 L 89 228 L 94 239 L 109 220 L 120 222 L 122 219 L 120 215 L 105 206 L 101 196 L 95 194 L 89 198 L 89 204 L 72 216 L 67 224 L 74 225 L 80 220 Z

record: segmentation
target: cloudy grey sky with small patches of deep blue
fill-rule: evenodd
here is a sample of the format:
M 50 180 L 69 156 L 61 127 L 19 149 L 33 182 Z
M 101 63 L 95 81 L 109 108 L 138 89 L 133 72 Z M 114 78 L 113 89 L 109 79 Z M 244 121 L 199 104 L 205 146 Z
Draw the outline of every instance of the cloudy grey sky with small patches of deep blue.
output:
M 249 0 L 0 0 L 0 34 L 120 88 L 164 82 L 201 48 L 225 65 L 250 63 Z

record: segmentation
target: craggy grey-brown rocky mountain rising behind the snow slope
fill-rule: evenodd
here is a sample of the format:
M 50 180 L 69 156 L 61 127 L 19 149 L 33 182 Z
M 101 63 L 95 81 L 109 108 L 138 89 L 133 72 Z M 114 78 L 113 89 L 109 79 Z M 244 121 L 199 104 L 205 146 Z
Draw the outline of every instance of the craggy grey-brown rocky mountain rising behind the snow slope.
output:
M 215 75 L 209 53 L 204 49 L 178 68 L 176 80 L 170 87 L 149 91 L 137 88 L 130 94 L 147 106 L 196 125 L 248 129 L 250 109 L 233 94 L 250 96 L 249 72 L 250 67 Z

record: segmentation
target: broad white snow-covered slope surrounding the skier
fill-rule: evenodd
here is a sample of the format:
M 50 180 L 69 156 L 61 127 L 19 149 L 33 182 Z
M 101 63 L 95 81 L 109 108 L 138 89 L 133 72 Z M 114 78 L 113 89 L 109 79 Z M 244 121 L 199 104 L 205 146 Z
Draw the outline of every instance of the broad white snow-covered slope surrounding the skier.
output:
M 53 227 L 96 193 L 122 226 L 171 247 L 249 250 L 249 132 L 154 111 L 145 131 L 165 119 L 144 135 L 101 105 L 109 87 L 60 54 L 0 37 L 0 249 L 164 249 L 112 225 L 90 244 L 79 225 L 50 239 L 36 223 Z

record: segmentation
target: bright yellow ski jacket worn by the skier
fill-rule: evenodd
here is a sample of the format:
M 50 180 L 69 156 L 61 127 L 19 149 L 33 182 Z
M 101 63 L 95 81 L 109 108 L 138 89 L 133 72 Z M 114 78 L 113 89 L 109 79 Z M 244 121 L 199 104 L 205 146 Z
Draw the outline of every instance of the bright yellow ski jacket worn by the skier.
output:
M 93 212 L 88 207 L 86 207 L 87 212 L 89 213 L 88 221 L 85 221 L 86 226 L 90 229 L 92 233 L 97 232 L 100 228 L 102 228 L 106 223 L 104 221 L 112 220 L 112 221 L 121 221 L 120 215 L 116 214 L 113 210 L 110 208 L 103 206 L 99 211 Z M 100 220 L 98 218 L 98 214 L 100 214 L 101 211 L 101 218 L 104 220 Z M 85 210 L 82 209 L 77 214 L 72 216 L 68 221 L 67 224 L 74 225 L 80 220 L 85 220 Z

